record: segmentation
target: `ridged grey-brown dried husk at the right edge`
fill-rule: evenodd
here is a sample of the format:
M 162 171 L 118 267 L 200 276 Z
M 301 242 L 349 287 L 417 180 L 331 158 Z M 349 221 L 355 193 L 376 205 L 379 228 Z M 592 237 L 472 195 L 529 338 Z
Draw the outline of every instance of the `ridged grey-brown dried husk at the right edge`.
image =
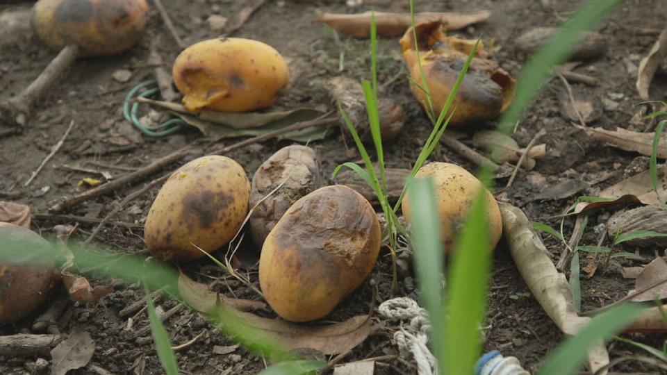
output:
M 667 234 L 667 209 L 663 206 L 651 205 L 617 212 L 609 217 L 607 231 L 609 231 L 609 237 L 611 238 L 614 238 L 617 231 L 621 235 L 635 231 Z M 635 238 L 624 243 L 632 246 L 664 249 L 667 247 L 667 237 Z

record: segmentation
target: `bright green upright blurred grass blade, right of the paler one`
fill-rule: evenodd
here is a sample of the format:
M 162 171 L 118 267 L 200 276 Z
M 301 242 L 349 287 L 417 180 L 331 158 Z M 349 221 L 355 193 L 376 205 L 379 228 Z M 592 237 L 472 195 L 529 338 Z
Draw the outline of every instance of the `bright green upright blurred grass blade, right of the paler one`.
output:
M 445 357 L 445 374 L 472 374 L 481 353 L 479 327 L 485 317 L 491 267 L 485 203 L 486 191 L 481 190 L 456 240 L 450 265 L 447 295 L 450 319 L 445 323 L 445 353 L 441 354 Z

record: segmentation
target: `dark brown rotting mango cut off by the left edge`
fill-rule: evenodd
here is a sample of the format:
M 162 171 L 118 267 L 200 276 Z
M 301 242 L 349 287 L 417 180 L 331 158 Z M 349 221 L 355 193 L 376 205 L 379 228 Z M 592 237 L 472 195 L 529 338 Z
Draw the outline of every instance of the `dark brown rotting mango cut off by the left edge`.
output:
M 40 256 L 51 244 L 22 226 L 0 222 L 0 240 L 20 243 L 25 249 L 22 259 L 0 263 L 0 324 L 6 324 L 27 317 L 47 300 L 55 280 L 55 261 Z

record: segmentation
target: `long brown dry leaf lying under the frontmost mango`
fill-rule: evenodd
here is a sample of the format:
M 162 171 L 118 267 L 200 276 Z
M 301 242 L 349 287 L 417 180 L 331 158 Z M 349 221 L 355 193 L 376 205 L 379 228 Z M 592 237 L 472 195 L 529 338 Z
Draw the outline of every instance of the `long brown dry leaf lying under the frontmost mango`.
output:
M 179 276 L 179 291 L 183 300 L 200 313 L 219 315 L 223 317 L 224 326 L 233 326 L 237 330 L 244 327 L 254 329 L 267 341 L 284 349 L 310 348 L 327 355 L 344 353 L 361 344 L 373 331 L 372 319 L 368 315 L 359 315 L 328 326 L 305 326 L 244 313 L 220 300 L 217 306 L 210 310 L 208 301 L 202 303 L 199 294 L 201 288 L 183 274 Z

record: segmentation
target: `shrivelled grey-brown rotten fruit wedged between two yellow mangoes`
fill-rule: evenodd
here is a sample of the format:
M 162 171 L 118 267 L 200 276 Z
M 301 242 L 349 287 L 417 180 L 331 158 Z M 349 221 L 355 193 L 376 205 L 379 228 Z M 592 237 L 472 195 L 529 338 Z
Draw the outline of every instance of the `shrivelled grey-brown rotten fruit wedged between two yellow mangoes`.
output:
M 281 183 L 277 192 L 261 201 Z M 250 207 L 258 204 L 250 217 L 255 244 L 261 248 L 288 208 L 322 185 L 320 161 L 310 147 L 298 144 L 283 147 L 262 163 L 252 177 L 250 190 Z

